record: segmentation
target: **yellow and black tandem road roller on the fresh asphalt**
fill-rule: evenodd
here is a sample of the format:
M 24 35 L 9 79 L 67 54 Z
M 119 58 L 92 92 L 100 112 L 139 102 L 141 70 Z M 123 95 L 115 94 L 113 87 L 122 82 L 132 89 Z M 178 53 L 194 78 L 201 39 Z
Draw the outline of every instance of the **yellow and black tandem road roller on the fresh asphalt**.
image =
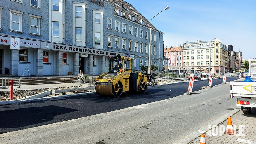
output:
M 145 93 L 147 90 L 147 71 L 132 71 L 131 58 L 124 56 L 108 57 L 108 73 L 95 79 L 98 95 L 119 97 L 123 92 Z

